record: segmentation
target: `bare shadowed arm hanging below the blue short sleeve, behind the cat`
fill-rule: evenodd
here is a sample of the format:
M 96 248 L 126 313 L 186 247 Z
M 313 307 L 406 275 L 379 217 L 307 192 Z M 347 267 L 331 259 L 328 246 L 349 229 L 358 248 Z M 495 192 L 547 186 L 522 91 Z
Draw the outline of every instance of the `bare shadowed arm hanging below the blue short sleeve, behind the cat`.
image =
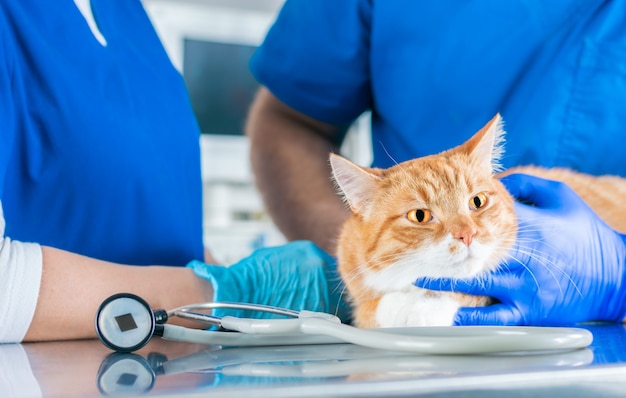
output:
M 289 240 L 308 239 L 334 253 L 348 216 L 331 180 L 330 152 L 338 128 L 288 108 L 262 89 L 246 133 L 256 184 L 276 225 Z

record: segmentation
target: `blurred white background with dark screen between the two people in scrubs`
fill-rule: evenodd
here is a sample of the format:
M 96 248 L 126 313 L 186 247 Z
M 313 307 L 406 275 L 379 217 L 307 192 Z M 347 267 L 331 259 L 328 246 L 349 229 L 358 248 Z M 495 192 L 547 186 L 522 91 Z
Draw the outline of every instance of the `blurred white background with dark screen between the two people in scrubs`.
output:
M 202 130 L 204 242 L 225 264 L 285 242 L 255 188 L 243 131 L 258 89 L 248 62 L 283 2 L 143 0 L 183 75 Z M 356 163 L 369 164 L 368 115 L 355 122 L 342 152 Z

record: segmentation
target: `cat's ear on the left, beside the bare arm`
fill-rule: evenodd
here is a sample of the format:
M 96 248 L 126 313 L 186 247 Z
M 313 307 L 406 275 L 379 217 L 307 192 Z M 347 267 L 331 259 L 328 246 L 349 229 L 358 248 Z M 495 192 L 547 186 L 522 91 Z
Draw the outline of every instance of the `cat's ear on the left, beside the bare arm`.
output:
M 334 153 L 330 154 L 330 166 L 338 190 L 350 209 L 355 213 L 363 211 L 376 192 L 380 177 L 374 173 L 374 169 L 370 172 Z

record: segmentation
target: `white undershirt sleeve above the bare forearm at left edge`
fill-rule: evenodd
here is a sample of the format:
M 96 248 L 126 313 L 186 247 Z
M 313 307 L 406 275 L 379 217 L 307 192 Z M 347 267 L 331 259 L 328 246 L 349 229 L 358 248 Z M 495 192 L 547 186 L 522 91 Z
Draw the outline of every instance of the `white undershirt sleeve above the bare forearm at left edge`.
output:
M 17 343 L 35 314 L 43 259 L 41 246 L 12 241 L 4 230 L 0 202 L 0 343 Z

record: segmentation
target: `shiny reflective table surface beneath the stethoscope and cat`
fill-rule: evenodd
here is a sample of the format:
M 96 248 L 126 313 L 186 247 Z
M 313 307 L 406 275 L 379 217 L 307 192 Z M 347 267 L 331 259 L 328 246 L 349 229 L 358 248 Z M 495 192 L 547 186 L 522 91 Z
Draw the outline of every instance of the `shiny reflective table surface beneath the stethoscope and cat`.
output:
M 507 355 L 416 355 L 350 344 L 222 348 L 160 339 L 132 354 L 112 353 L 97 340 L 0 345 L 0 391 L 44 397 L 626 394 L 626 327 L 585 328 L 594 334 L 587 349 Z

